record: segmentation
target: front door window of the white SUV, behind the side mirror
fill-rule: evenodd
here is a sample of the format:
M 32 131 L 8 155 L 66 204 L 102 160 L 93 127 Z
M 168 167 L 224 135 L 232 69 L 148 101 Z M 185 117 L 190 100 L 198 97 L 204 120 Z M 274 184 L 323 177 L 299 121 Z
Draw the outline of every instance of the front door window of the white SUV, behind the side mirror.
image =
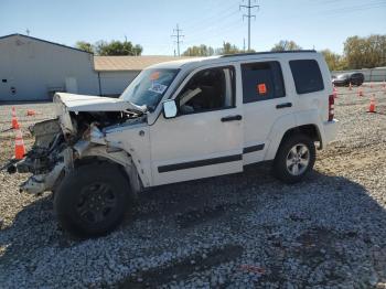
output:
M 180 115 L 235 106 L 235 69 L 232 66 L 197 72 L 176 98 Z

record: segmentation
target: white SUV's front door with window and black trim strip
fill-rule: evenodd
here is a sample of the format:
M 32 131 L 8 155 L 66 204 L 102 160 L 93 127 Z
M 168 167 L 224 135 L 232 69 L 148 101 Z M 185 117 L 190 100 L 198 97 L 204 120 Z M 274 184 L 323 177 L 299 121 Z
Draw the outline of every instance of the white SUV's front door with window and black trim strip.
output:
M 175 118 L 150 126 L 153 184 L 243 170 L 243 110 L 235 67 L 193 72 L 174 95 Z

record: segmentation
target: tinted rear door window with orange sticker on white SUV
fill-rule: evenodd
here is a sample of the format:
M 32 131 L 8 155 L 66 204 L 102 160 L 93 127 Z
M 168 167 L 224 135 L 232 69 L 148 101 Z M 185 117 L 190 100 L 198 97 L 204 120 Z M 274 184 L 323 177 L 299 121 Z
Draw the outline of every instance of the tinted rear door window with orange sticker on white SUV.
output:
M 279 62 L 242 64 L 242 74 L 244 104 L 286 96 Z

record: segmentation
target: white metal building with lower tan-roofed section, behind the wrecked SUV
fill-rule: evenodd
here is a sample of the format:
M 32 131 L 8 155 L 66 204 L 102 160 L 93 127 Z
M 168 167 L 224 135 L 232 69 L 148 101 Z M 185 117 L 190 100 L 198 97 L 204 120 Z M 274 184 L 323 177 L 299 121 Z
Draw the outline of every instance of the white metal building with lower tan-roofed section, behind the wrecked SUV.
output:
M 55 92 L 120 95 L 144 67 L 174 56 L 94 56 L 22 34 L 0 38 L 0 101 L 50 100 Z

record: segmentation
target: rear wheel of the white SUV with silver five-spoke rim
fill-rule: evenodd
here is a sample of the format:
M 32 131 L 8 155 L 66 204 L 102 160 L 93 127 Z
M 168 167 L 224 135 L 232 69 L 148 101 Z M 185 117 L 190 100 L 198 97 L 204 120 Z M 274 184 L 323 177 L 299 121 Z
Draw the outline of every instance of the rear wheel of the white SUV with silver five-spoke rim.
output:
M 315 144 L 304 135 L 287 137 L 274 161 L 275 175 L 285 183 L 297 183 L 312 170 L 315 163 Z

